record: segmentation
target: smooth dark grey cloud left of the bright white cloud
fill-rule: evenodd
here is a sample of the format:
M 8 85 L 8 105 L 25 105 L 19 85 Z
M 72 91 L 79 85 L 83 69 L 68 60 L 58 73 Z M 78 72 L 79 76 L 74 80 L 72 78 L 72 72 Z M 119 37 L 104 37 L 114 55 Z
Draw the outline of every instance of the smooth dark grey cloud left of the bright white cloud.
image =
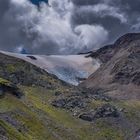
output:
M 28 40 L 22 32 L 21 24 L 16 20 L 15 13 L 11 10 L 9 0 L 0 1 L 0 48 L 14 51 L 22 44 L 28 44 Z

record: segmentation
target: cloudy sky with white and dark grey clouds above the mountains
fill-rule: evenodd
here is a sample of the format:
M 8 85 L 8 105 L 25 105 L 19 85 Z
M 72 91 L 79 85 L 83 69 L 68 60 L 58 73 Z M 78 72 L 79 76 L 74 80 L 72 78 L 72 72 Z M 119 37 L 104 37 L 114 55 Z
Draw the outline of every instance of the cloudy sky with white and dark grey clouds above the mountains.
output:
M 0 0 L 1 50 L 75 54 L 140 30 L 140 0 L 32 2 Z

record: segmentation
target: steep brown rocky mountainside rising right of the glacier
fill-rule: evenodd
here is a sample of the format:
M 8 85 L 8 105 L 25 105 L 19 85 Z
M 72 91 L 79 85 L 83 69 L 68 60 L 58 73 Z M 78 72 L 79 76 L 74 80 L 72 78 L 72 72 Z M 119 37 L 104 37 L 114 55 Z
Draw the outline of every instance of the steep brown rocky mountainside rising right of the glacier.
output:
M 90 55 L 102 66 L 82 86 L 102 88 L 116 98 L 140 98 L 140 34 L 127 34 Z

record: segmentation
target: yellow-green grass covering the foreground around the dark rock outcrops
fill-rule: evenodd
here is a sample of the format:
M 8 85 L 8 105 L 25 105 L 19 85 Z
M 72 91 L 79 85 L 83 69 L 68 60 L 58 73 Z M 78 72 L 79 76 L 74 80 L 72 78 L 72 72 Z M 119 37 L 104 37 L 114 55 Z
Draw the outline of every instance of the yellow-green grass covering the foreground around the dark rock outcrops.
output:
M 0 113 L 6 115 L 11 112 L 10 119 L 18 121 L 19 125 L 18 128 L 5 119 L 0 119 L 0 125 L 6 129 L 10 140 L 125 140 L 130 133 L 130 128 L 124 128 L 121 122 L 115 124 L 110 118 L 90 123 L 72 116 L 70 111 L 51 106 L 50 102 L 57 89 L 53 91 L 26 86 L 21 89 L 25 96 L 20 100 L 12 95 L 0 99 Z M 103 104 L 104 101 L 93 101 L 90 107 L 96 108 Z M 111 104 L 118 108 L 127 108 L 124 117 L 130 119 L 130 123 L 140 120 L 137 116 L 140 111 L 138 101 L 116 101 Z

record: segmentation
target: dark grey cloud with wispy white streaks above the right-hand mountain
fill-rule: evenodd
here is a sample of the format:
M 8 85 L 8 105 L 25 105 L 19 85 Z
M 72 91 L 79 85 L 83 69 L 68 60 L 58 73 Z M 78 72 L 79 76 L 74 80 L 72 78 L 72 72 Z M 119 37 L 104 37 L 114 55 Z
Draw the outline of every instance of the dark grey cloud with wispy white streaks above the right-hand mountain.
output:
M 139 0 L 72 0 L 75 3 L 73 22 L 75 24 L 100 24 L 109 32 L 108 42 L 127 32 L 139 31 Z M 102 9 L 101 5 L 106 6 Z M 81 7 L 88 7 L 80 10 Z M 99 11 L 95 10 L 99 7 Z M 90 9 L 91 10 L 90 10 Z M 83 8 L 84 9 L 84 8 Z M 110 10 L 109 10 L 110 9 Z M 106 13 L 106 14 L 105 14 Z M 134 30 L 136 29 L 136 30 Z

